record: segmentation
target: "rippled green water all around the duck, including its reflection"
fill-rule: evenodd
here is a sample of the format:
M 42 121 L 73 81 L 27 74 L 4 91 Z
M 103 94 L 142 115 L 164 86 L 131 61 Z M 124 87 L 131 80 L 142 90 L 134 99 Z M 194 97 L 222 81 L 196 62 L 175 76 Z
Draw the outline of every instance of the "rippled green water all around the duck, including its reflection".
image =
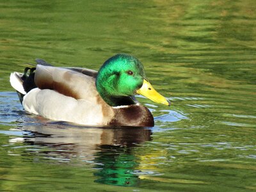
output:
M 255 1 L 0 1 L 0 191 L 255 191 Z M 98 70 L 139 58 L 172 100 L 152 128 L 26 114 L 10 86 L 35 58 Z

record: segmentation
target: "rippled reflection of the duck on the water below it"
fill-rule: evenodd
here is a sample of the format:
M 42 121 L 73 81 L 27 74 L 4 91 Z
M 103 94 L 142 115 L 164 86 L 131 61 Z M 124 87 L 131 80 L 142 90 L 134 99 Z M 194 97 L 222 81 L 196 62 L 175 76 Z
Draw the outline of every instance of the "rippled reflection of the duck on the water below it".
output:
M 69 162 L 77 159 L 93 164 L 95 182 L 136 186 L 140 177 L 134 173 L 140 164 L 132 150 L 137 144 L 151 140 L 145 127 L 81 127 L 61 122 L 22 124 L 24 135 L 12 141 L 22 141 L 44 148 L 35 154 Z M 45 150 L 47 147 L 49 150 Z M 37 155 L 36 155 L 37 156 Z

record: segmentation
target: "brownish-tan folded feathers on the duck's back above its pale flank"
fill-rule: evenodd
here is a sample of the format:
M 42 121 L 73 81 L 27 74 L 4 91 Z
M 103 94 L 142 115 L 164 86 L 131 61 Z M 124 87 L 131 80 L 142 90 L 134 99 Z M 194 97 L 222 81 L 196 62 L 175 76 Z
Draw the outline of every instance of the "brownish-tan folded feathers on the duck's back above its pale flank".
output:
M 99 95 L 95 87 L 95 77 L 69 68 L 37 65 L 35 84 L 42 90 L 55 90 L 74 99 L 86 99 L 91 102 L 95 102 Z

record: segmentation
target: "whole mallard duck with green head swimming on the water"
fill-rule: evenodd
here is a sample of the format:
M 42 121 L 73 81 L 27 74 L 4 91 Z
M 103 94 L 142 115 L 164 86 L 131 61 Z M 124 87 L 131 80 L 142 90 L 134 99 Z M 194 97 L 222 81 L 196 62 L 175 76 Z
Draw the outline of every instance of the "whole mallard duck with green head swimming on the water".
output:
M 44 60 L 36 64 L 10 76 L 25 111 L 35 115 L 82 125 L 153 127 L 152 114 L 134 95 L 170 106 L 148 82 L 141 62 L 129 54 L 109 58 L 99 72 L 53 67 Z

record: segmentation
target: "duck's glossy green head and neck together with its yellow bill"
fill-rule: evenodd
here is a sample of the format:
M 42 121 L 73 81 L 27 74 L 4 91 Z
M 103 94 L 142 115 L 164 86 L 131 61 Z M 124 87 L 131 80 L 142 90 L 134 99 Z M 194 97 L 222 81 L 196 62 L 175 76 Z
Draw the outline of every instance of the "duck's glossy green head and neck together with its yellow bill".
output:
M 97 75 L 96 88 L 110 106 L 134 104 L 127 96 L 136 93 L 170 105 L 147 81 L 141 62 L 129 54 L 116 54 L 105 61 Z

